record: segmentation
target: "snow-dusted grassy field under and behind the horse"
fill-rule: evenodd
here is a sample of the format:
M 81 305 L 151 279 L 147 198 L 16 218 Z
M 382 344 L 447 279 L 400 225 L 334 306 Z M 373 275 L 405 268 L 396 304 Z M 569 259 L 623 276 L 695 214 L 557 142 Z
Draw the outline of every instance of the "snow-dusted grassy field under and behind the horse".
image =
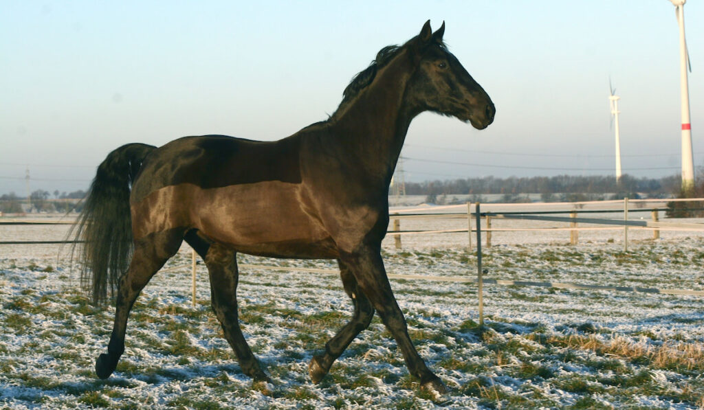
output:
M 436 223 L 404 220 L 401 228 Z M 456 223 L 466 228 L 466 221 Z M 0 237 L 61 240 L 65 229 L 0 226 Z M 701 232 L 663 232 L 652 241 L 650 231 L 634 230 L 629 252 L 622 250 L 622 231 L 591 235 L 580 232 L 579 245 L 570 246 L 568 231 L 494 233 L 494 246 L 484 249 L 486 277 L 704 290 Z M 476 257 L 466 245 L 467 233 L 403 236 L 396 250 L 389 236 L 386 269 L 472 276 Z M 239 260 L 336 268 L 332 261 Z M 184 246 L 168 267 L 189 261 Z M 308 361 L 345 323 L 351 303 L 334 276 L 264 269 L 243 271 L 239 287 L 244 333 L 274 380 L 253 389 L 210 312 L 202 265 L 198 280 L 193 307 L 189 268 L 153 278 L 132 310 L 117 371 L 99 380 L 94 360 L 106 349 L 114 309 L 89 304 L 67 249 L 0 245 L 0 408 L 704 406 L 701 296 L 486 286 L 482 329 L 475 285 L 392 281 L 417 349 L 452 389 L 434 401 L 418 391 L 378 319 L 320 385 L 310 383 Z

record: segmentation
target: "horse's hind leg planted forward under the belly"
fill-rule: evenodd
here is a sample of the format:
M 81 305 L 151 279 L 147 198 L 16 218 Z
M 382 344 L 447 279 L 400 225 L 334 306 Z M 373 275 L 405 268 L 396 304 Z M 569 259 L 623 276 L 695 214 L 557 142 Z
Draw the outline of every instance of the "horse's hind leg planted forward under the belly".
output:
M 237 355 L 239 366 L 255 382 L 270 382 L 270 378 L 261 369 L 259 361 L 252 354 L 239 328 L 237 314 L 239 271 L 235 253 L 222 245 L 210 245 L 206 255 L 206 266 L 210 274 L 210 300 L 213 304 L 213 312 L 218 316 L 225 339 Z

